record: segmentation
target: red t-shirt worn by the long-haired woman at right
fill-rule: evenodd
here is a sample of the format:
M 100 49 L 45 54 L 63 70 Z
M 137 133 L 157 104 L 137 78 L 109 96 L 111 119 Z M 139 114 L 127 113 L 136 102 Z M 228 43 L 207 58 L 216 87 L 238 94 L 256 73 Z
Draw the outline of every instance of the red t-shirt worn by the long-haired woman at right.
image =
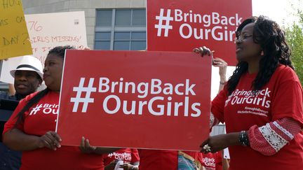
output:
M 212 102 L 212 112 L 226 123 L 227 133 L 248 130 L 253 125 L 260 127 L 281 118 L 293 118 L 303 125 L 303 92 L 295 71 L 288 66 L 278 66 L 269 83 L 252 95 L 255 76 L 245 73 L 229 97 L 224 87 Z M 272 156 L 244 146 L 231 146 L 229 153 L 231 170 L 303 169 L 303 132 Z

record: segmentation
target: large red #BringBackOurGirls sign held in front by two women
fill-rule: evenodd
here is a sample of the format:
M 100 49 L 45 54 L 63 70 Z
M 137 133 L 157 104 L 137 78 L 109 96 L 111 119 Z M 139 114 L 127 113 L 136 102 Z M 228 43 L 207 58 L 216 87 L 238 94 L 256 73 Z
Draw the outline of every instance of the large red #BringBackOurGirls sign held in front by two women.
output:
M 209 134 L 211 57 L 67 50 L 62 145 L 199 150 Z

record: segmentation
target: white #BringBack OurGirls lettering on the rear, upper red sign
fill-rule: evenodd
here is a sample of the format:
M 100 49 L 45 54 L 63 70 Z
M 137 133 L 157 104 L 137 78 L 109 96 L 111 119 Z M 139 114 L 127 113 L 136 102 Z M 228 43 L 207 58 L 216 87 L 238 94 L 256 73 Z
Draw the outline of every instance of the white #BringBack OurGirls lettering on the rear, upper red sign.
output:
M 201 40 L 234 41 L 235 29 L 231 29 L 229 26 L 236 27 L 241 24 L 242 17 L 239 17 L 238 13 L 227 17 L 216 12 L 203 15 L 194 13 L 192 10 L 184 13 L 180 9 L 165 10 L 161 8 L 156 20 L 159 21 L 158 24 L 155 24 L 155 28 L 158 30 L 157 36 L 167 37 L 170 30 L 179 29 L 180 36 L 184 39 L 194 37 Z M 184 23 L 179 28 L 175 28 L 172 22 Z M 198 27 L 192 26 L 193 23 L 198 23 Z M 162 34 L 162 31 L 164 31 L 164 34 Z

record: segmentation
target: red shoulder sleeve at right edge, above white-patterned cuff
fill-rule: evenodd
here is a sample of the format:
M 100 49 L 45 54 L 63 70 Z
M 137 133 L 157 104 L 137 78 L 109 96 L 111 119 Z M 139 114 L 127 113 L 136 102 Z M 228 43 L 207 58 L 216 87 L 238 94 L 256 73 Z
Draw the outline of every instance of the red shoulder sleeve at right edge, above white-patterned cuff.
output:
M 281 71 L 280 81 L 272 101 L 273 120 L 293 118 L 303 127 L 303 90 L 295 71 L 286 67 Z

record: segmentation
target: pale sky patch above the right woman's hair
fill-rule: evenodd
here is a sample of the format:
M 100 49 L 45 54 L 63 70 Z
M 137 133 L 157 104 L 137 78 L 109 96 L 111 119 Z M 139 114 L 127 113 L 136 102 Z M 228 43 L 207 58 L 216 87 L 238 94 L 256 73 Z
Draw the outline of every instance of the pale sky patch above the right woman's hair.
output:
M 297 21 L 297 17 L 292 15 L 296 12 L 292 4 L 295 8 L 303 10 L 303 0 L 253 0 L 253 15 L 265 15 L 281 26 L 288 26 Z

